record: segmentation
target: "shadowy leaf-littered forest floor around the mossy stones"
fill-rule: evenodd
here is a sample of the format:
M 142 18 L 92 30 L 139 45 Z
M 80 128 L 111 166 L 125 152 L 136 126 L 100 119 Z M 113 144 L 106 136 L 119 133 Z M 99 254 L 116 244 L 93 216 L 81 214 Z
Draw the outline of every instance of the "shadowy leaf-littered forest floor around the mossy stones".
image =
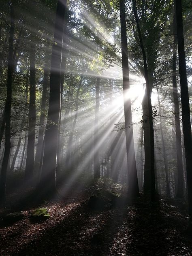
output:
M 95 189 L 95 188 L 94 188 Z M 21 191 L 20 191 L 21 192 Z M 108 203 L 92 210 L 87 202 L 93 188 L 41 205 L 14 206 L 18 193 L 9 194 L 9 203 L 0 211 L 0 256 L 185 256 L 192 255 L 186 205 L 160 198 L 159 203 L 137 200 L 118 207 Z M 32 221 L 36 207 L 47 208 L 50 218 Z M 25 217 L 5 223 L 5 213 L 22 211 Z

